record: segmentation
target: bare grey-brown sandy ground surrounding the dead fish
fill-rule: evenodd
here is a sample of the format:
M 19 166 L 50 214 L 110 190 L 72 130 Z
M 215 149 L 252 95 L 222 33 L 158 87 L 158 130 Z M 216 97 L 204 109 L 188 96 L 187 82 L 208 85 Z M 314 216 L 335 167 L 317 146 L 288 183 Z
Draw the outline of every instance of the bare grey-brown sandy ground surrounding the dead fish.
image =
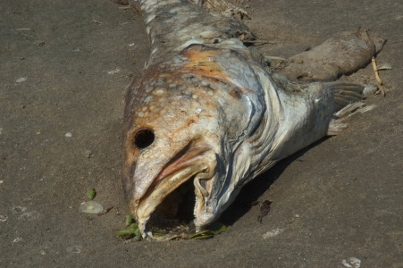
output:
M 393 67 L 381 72 L 390 92 L 369 97 L 376 107 L 352 116 L 340 136 L 248 184 L 223 214 L 221 235 L 135 242 L 115 233 L 127 214 L 123 96 L 149 53 L 139 13 L 106 0 L 0 2 L 1 267 L 403 267 L 403 3 L 239 5 L 256 35 L 271 40 L 259 46 L 265 54 L 373 29 L 388 39 L 377 61 Z M 371 66 L 342 79 L 375 83 Z M 78 212 L 88 188 L 113 206 L 108 214 Z M 271 211 L 259 223 L 250 204 L 266 199 Z

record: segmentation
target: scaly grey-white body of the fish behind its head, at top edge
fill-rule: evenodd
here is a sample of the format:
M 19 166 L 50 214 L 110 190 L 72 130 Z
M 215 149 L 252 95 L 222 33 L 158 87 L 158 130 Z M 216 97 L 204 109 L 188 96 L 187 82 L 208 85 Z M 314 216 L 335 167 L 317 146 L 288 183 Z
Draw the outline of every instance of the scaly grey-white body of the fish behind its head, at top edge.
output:
M 172 58 L 191 44 L 214 45 L 230 38 L 253 39 L 241 22 L 207 13 L 187 0 L 139 1 L 151 55 L 147 64 Z

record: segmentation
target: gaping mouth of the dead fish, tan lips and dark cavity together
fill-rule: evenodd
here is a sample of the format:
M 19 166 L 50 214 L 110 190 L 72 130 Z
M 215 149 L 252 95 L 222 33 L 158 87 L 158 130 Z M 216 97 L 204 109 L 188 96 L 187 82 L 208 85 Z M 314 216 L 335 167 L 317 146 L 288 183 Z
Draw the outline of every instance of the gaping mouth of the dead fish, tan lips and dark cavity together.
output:
M 214 152 L 206 145 L 188 145 L 175 155 L 132 210 L 143 238 L 153 239 L 153 231 L 194 231 L 193 220 L 208 196 L 214 167 Z

